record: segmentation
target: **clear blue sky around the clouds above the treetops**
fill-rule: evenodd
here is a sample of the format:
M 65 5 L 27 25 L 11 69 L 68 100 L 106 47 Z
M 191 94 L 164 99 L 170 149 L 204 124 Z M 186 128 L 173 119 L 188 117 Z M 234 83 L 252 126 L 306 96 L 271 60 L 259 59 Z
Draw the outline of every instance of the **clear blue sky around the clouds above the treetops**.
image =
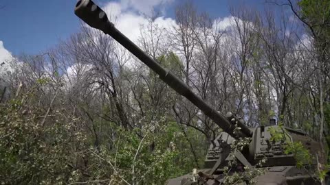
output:
M 152 3 L 154 1 L 154 3 Z M 157 2 L 164 2 L 157 5 Z M 229 6 L 248 4 L 263 7 L 264 0 L 192 0 L 200 11 L 206 11 L 214 18 L 229 16 Z M 126 7 L 125 12 L 162 8 L 164 17 L 174 18 L 174 7 L 179 0 L 96 0 L 102 6 L 109 2 Z M 144 6 L 144 3 L 146 6 Z M 79 21 L 74 15 L 76 0 L 0 0 L 0 40 L 3 47 L 13 55 L 37 54 L 55 47 L 58 40 L 65 40 L 78 32 Z M 149 5 L 149 6 L 148 6 Z M 146 8 L 143 8 L 146 7 Z M 148 8 L 149 7 L 149 8 Z M 148 14 L 148 13 L 146 13 Z M 124 24 L 124 23 L 123 23 Z M 1 45 L 0 45 L 1 47 Z

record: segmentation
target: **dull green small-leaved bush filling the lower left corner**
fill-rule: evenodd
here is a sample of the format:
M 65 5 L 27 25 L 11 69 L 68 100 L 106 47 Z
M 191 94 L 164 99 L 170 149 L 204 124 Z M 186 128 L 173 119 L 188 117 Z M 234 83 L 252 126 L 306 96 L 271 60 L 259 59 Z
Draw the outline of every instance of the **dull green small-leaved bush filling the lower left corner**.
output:
M 0 179 L 3 184 L 52 184 L 71 177 L 71 160 L 84 149 L 85 136 L 71 119 L 63 124 L 56 114 L 52 127 L 39 124 L 41 110 L 23 116 L 23 104 L 14 99 L 0 106 Z

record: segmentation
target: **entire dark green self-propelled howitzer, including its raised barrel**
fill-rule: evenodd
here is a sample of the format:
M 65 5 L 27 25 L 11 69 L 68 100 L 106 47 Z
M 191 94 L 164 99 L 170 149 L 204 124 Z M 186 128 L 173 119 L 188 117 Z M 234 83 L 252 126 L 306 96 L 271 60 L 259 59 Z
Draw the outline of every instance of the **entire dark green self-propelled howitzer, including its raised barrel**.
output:
M 199 170 L 198 173 L 196 171 L 197 177 L 193 176 L 196 174 L 190 174 L 169 180 L 169 185 L 223 184 L 225 174 L 223 173 L 223 168 L 228 165 L 228 161 L 233 157 L 236 158 L 241 167 L 265 169 L 266 172 L 263 175 L 255 177 L 256 184 L 320 184 L 316 180 L 316 176 L 309 172 L 316 171 L 318 165 L 316 159 L 322 161 L 320 143 L 312 140 L 305 132 L 287 127 L 278 127 L 278 125 L 274 124 L 274 121 L 268 126 L 249 128 L 245 125 L 243 119 L 238 119 L 230 113 L 223 115 L 217 112 L 208 103 L 195 95 L 181 79 L 164 69 L 158 62 L 131 42 L 129 38 L 126 38 L 118 31 L 107 18 L 107 14 L 93 1 L 78 1 L 75 14 L 91 27 L 100 29 L 104 34 L 108 34 L 119 42 L 120 45 L 157 73 L 159 78 L 168 86 L 173 88 L 179 95 L 186 97 L 223 130 L 210 145 L 205 160 L 205 169 Z M 237 127 L 239 129 L 235 129 Z M 282 132 L 285 135 L 285 139 L 272 140 L 271 130 Z M 248 146 L 244 147 L 242 151 L 235 151 L 233 155 L 229 155 L 231 152 L 230 145 L 234 140 L 241 140 L 242 138 L 250 138 Z M 301 142 L 303 146 L 309 149 L 312 155 L 317 155 L 318 158 L 314 158 L 308 164 L 303 163 L 303 168 L 298 169 L 294 154 L 285 152 L 285 146 L 291 142 Z M 264 158 L 266 158 L 266 162 L 263 163 L 262 167 L 256 166 Z M 241 168 L 240 170 L 244 171 L 245 169 Z M 241 182 L 241 184 L 248 184 L 248 181 Z

